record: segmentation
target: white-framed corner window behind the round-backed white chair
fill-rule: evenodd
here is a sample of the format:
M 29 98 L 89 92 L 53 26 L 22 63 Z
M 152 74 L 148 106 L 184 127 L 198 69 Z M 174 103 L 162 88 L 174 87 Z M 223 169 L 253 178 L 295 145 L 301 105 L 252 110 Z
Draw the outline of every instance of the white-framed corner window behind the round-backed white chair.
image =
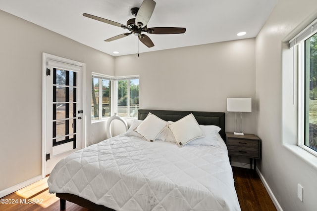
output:
M 111 100 L 111 95 L 116 100 Z M 99 74 L 92 75 L 91 116 L 93 121 L 110 117 L 114 113 L 120 117 L 136 118 L 138 109 L 138 76 L 116 78 Z

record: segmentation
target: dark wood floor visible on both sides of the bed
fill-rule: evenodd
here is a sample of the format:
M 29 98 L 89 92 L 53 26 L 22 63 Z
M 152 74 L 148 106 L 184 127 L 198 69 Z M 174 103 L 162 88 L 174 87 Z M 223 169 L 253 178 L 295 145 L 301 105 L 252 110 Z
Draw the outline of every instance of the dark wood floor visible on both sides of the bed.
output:
M 233 174 L 242 211 L 276 211 L 258 174 L 236 167 L 233 167 Z M 59 198 L 49 193 L 47 179 L 1 198 L 0 211 L 59 211 Z M 88 209 L 66 202 L 66 211 Z

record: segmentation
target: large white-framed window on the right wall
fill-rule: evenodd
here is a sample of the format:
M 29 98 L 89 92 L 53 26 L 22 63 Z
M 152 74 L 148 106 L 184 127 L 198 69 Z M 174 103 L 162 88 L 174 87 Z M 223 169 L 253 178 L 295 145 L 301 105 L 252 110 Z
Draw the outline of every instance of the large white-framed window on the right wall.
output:
M 317 156 L 317 20 L 289 43 L 298 65 L 298 145 Z

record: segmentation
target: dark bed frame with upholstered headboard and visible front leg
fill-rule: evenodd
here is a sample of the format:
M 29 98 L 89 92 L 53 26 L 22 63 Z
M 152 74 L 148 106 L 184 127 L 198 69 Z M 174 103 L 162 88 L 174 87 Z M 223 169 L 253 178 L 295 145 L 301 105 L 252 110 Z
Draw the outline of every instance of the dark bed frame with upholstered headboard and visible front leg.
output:
M 138 120 L 144 120 L 147 115 L 151 112 L 159 118 L 165 121 L 173 121 L 185 117 L 188 114 L 193 114 L 199 125 L 215 125 L 221 128 L 219 131 L 220 136 L 226 141 L 225 134 L 225 113 L 224 112 L 203 112 L 203 111 L 166 111 L 166 110 L 152 110 L 152 109 L 139 109 Z M 103 205 L 97 205 L 89 200 L 81 198 L 74 194 L 69 193 L 56 193 L 59 197 L 60 210 L 66 209 L 66 201 L 75 203 L 82 207 L 88 208 L 93 211 L 114 211 Z

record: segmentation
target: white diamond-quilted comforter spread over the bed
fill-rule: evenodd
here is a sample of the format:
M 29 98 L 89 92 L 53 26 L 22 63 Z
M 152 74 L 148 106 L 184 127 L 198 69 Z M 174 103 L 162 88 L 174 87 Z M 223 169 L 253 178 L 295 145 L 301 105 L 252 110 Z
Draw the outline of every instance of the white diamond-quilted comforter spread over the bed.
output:
M 61 160 L 50 193 L 116 211 L 240 211 L 226 147 L 147 142 L 119 135 Z

